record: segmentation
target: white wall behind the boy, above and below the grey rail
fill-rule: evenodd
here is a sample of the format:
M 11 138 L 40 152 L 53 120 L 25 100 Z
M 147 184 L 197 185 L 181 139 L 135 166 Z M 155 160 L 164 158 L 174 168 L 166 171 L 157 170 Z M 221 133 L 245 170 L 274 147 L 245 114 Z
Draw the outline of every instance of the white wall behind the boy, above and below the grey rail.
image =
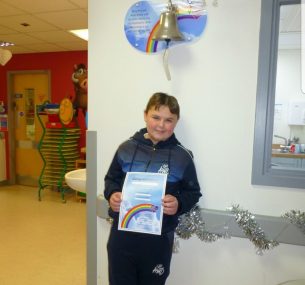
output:
M 251 185 L 260 1 L 218 2 L 216 8 L 207 0 L 202 38 L 170 51 L 167 81 L 162 55 L 140 53 L 125 38 L 124 17 L 135 1 L 89 0 L 89 129 L 101 137 L 99 191 L 119 143 L 144 126 L 148 98 L 165 91 L 181 105 L 176 135 L 195 155 L 202 207 L 225 210 L 234 203 L 273 216 L 304 211 L 304 190 Z M 104 248 L 107 225 L 102 232 Z M 258 256 L 247 239 L 194 238 L 173 256 L 168 285 L 273 285 L 304 277 L 304 256 L 300 246 L 281 244 Z M 101 266 L 105 285 L 105 251 Z

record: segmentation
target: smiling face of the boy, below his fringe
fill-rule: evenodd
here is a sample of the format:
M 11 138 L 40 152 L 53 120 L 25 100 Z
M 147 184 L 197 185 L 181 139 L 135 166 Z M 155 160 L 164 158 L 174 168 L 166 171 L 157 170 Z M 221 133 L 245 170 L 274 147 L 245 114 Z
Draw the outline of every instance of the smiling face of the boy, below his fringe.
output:
M 174 132 L 178 122 L 178 116 L 171 113 L 167 106 L 160 106 L 155 110 L 154 106 L 144 112 L 144 121 L 151 141 L 156 144 L 167 140 Z

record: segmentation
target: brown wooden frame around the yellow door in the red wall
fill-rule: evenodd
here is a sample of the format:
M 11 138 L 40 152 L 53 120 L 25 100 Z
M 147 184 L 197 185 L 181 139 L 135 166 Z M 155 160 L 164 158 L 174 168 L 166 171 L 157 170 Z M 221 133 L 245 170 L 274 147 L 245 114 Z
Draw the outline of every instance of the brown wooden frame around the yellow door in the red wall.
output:
M 9 143 L 9 179 L 8 184 L 16 184 L 16 144 L 15 144 L 15 116 L 14 116 L 14 98 L 13 98 L 13 77 L 23 74 L 46 74 L 48 76 L 48 99 L 51 97 L 51 72 L 47 69 L 39 70 L 17 70 L 7 72 L 7 102 L 8 102 L 8 143 Z

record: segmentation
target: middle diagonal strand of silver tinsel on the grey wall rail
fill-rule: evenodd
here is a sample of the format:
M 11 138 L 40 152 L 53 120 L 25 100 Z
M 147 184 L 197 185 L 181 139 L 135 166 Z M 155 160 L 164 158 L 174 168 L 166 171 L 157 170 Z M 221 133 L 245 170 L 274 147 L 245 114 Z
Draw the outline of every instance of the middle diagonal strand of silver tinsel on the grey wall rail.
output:
M 265 232 L 255 221 L 255 216 L 249 211 L 240 209 L 239 205 L 232 206 L 229 210 L 235 215 L 235 220 L 245 236 L 256 247 L 257 254 L 262 255 L 263 251 L 279 245 L 277 241 L 267 239 Z

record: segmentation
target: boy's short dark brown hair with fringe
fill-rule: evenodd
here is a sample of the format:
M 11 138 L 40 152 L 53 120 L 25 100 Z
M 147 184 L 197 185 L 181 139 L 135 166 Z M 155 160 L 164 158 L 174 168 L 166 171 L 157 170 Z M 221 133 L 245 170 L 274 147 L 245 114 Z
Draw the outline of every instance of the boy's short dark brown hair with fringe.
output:
M 163 92 L 154 93 L 145 109 L 145 113 L 147 113 L 151 108 L 155 108 L 155 110 L 159 110 L 161 106 L 167 106 L 172 114 L 177 115 L 178 119 L 180 117 L 180 107 L 177 99 L 174 96 L 168 95 Z

